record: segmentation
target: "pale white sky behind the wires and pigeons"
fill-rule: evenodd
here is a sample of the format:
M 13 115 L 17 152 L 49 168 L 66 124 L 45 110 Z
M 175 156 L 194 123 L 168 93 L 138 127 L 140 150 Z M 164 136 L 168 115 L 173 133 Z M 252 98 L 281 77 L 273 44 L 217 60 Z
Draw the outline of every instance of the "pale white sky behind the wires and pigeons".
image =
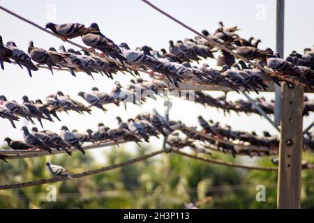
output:
M 262 40 L 261 48 L 271 47 L 275 49 L 275 29 L 276 29 L 276 1 L 259 0 L 259 1 L 151 1 L 157 6 L 166 10 L 168 13 L 177 17 L 179 20 L 186 22 L 194 29 L 208 29 L 212 33 L 217 28 L 218 21 L 223 21 L 226 26 L 238 25 L 241 28 L 239 35 L 244 38 L 254 36 Z M 314 30 L 314 1 L 286 1 L 285 7 L 285 56 L 293 49 L 302 52 L 304 47 L 313 46 Z M 1 6 L 4 6 L 15 13 L 20 14 L 27 19 L 45 26 L 47 22 L 66 23 L 80 22 L 89 26 L 91 22 L 97 22 L 100 30 L 109 38 L 119 44 L 128 43 L 131 48 L 137 46 L 149 45 L 154 49 L 162 47 L 168 48 L 168 41 L 183 40 L 186 37 L 193 38 L 191 33 L 184 27 L 179 26 L 167 17 L 156 12 L 140 0 L 116 0 L 116 1 L 13 1 L 2 0 Z M 21 20 L 0 11 L 0 30 L 3 42 L 14 40 L 18 47 L 27 51 L 29 40 L 33 40 L 35 46 L 59 48 L 59 45 L 65 45 L 66 48 L 73 47 L 64 43 L 58 38 L 36 29 L 34 26 L 26 24 Z M 82 43 L 80 38 L 73 39 L 74 42 Z M 75 47 L 73 47 L 75 48 Z M 205 61 L 204 61 L 205 62 Z M 206 61 L 214 66 L 215 61 Z M 8 100 L 17 100 L 21 102 L 23 95 L 28 95 L 31 100 L 37 98 L 45 99 L 46 95 L 63 91 L 72 98 L 84 102 L 82 98 L 77 98 L 79 91 L 90 91 L 91 87 L 97 86 L 100 91 L 110 91 L 115 80 L 119 80 L 124 86 L 130 75 L 119 74 L 114 76 L 114 81 L 94 75 L 95 80 L 87 77 L 84 73 L 78 73 L 73 77 L 69 72 L 54 72 L 53 76 L 49 70 L 39 70 L 33 72 L 30 78 L 27 70 L 5 63 L 5 70 L 0 70 L 0 93 L 6 95 Z M 146 74 L 142 77 L 149 78 Z M 220 95 L 219 92 L 208 92 L 211 95 Z M 251 93 L 256 97 L 256 93 Z M 274 93 L 261 93 L 271 99 Z M 237 93 L 229 93 L 228 100 L 237 100 L 244 98 Z M 314 98 L 309 94 L 309 98 Z M 86 102 L 84 102 L 87 104 Z M 245 114 L 238 116 L 232 112 L 231 116 L 223 116 L 223 112 L 217 112 L 216 108 L 204 108 L 201 105 L 195 105 L 193 102 L 174 99 L 170 111 L 170 118 L 181 120 L 187 125 L 197 125 L 197 115 L 202 114 L 206 119 L 220 121 L 223 124 L 232 125 L 234 130 L 255 130 L 257 133 L 262 130 L 276 134 L 276 130 L 260 116 Z M 103 114 L 99 109 L 93 109 L 91 115 L 79 115 L 70 112 L 70 115 L 59 114 L 61 122 L 49 123 L 43 121 L 44 128 L 59 132 L 61 125 L 67 125 L 70 130 L 76 128 L 84 131 L 87 128 L 96 129 L 99 122 L 105 123 L 110 127 L 117 126 L 114 119 L 117 115 L 124 120 L 133 117 L 141 111 L 151 112 L 153 107 L 163 113 L 163 100 L 148 100 L 147 104 L 138 107 L 128 105 L 128 112 L 124 107 L 115 105 L 105 106 L 109 111 Z M 304 118 L 304 125 L 307 126 L 313 121 L 313 114 Z M 20 128 L 25 125 L 23 121 L 16 122 L 17 129 L 12 128 L 7 120 L 0 119 L 0 140 L 4 137 L 13 139 L 22 139 Z M 29 124 L 29 126 L 31 126 Z M 40 128 L 40 125 L 37 125 Z M 161 145 L 161 140 L 154 140 L 156 145 Z M 0 144 L 1 145 L 1 144 Z M 133 147 L 133 144 L 130 144 Z

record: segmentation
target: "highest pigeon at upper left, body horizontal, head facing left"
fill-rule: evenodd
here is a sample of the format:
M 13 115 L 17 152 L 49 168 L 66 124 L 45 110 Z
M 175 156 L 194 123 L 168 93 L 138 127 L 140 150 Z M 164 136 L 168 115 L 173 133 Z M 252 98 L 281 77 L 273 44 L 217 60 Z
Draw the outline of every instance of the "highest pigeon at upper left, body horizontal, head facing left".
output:
M 50 29 L 53 33 L 61 36 L 63 40 L 72 39 L 77 36 L 84 36 L 87 33 L 96 31 L 94 28 L 87 28 L 80 23 L 66 23 L 66 24 L 54 24 L 48 22 L 45 29 Z

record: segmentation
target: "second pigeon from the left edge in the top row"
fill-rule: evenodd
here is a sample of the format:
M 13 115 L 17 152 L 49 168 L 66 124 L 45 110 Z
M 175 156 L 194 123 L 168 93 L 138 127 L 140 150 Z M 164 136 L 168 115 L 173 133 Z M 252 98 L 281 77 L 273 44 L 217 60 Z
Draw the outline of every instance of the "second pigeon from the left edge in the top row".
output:
M 38 70 L 38 68 L 36 68 L 36 66 L 31 61 L 31 57 L 22 49 L 18 48 L 13 41 L 8 41 L 8 43 L 6 43 L 6 46 L 16 54 L 20 65 L 27 68 L 27 71 L 29 72 L 29 77 L 32 77 L 31 70 L 36 71 Z

